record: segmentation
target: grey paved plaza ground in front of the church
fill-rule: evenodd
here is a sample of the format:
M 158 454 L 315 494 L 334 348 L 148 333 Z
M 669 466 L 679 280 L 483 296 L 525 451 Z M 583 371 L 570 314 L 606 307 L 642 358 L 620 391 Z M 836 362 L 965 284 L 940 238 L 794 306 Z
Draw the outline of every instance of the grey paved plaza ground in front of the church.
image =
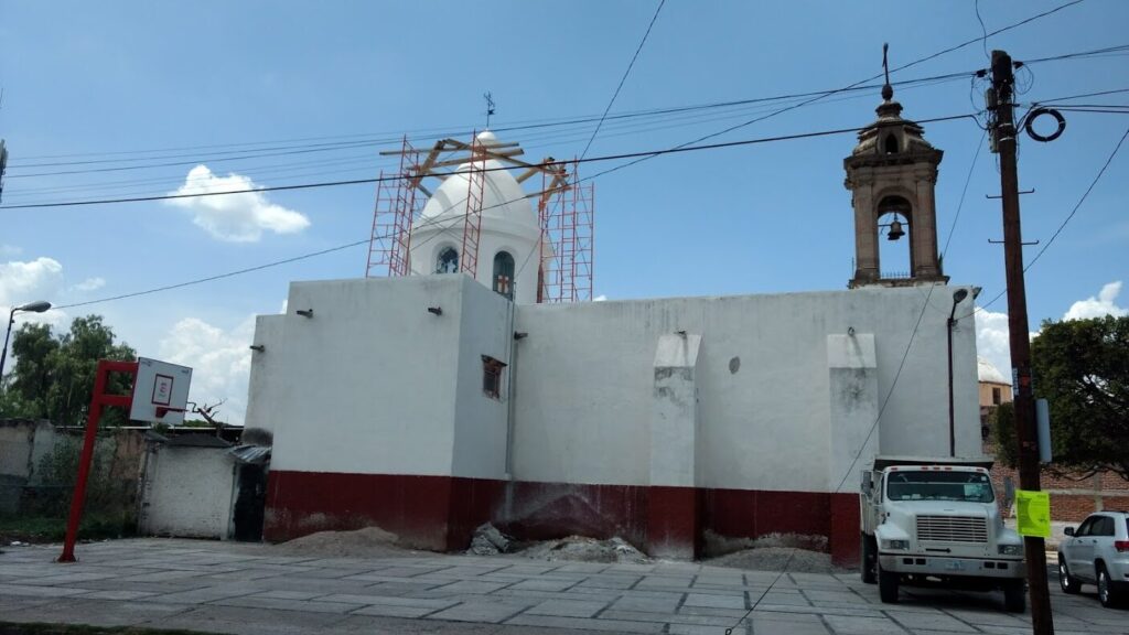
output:
M 883 604 L 854 574 L 436 554 L 320 558 L 172 539 L 80 545 L 80 562 L 69 565 L 52 562 L 54 547 L 5 550 L 0 620 L 18 623 L 240 635 L 1031 633 L 1030 615 L 1004 612 L 999 593 L 908 590 L 901 603 Z M 1056 585 L 1052 604 L 1059 634 L 1129 633 L 1129 611 L 1102 609 L 1092 593 L 1068 597 Z

